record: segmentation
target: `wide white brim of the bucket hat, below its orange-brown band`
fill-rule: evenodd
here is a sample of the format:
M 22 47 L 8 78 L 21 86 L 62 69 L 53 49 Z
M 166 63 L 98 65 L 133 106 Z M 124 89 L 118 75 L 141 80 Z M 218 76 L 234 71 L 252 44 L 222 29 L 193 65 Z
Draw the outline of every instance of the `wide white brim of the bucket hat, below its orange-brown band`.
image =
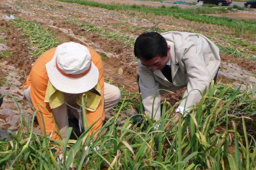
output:
M 46 64 L 46 69 L 51 84 L 59 91 L 70 94 L 79 94 L 89 91 L 97 85 L 99 79 L 99 70 L 94 63 L 91 63 L 91 69 L 86 75 L 79 78 L 70 78 L 61 74 L 57 70 L 55 60 L 56 56 L 54 55 L 53 59 Z

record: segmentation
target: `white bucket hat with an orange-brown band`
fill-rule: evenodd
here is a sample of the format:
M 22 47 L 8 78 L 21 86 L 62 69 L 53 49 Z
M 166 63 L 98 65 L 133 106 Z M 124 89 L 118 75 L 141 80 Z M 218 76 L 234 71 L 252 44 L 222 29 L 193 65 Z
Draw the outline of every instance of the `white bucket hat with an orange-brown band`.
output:
M 60 44 L 46 68 L 51 84 L 70 94 L 89 91 L 99 78 L 99 70 L 92 63 L 89 50 L 74 42 Z

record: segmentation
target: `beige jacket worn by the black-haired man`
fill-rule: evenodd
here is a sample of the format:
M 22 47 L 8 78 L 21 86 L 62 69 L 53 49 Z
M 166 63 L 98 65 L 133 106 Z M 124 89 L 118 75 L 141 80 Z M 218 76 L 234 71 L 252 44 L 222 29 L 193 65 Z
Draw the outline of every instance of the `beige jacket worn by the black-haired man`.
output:
M 160 70 L 153 71 L 138 60 L 144 110 L 154 119 L 160 118 L 160 88 L 175 91 L 186 86 L 180 107 L 187 111 L 199 101 L 200 92 L 209 87 L 220 64 L 219 48 L 201 34 L 170 31 L 161 35 L 170 45 L 173 83 L 168 82 Z

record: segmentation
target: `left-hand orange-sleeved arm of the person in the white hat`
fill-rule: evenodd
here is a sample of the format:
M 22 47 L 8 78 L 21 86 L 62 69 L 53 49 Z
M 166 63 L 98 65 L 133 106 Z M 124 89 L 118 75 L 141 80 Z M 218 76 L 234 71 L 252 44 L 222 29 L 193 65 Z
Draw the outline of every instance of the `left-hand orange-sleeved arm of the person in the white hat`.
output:
M 48 84 L 48 75 L 45 64 L 52 59 L 56 48 L 50 49 L 43 53 L 33 64 L 30 75 L 28 75 L 27 83 L 31 86 L 31 101 L 37 111 L 37 121 L 41 127 L 41 132 L 55 140 L 60 140 L 57 134 L 57 126 L 53 122 L 54 117 L 48 103 L 44 102 L 44 97 Z M 27 86 L 28 86 L 27 85 Z M 45 129 L 44 129 L 45 127 Z

